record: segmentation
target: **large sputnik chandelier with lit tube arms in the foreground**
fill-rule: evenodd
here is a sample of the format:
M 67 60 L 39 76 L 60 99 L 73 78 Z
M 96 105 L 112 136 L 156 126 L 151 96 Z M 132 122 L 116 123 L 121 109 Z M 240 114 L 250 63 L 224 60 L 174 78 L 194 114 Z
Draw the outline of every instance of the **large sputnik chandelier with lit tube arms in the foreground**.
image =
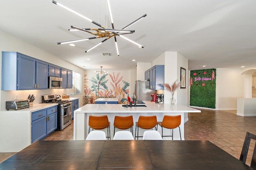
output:
M 117 46 L 117 41 L 116 41 L 116 36 L 119 36 L 127 41 L 130 41 L 131 43 L 137 45 L 140 48 L 144 48 L 144 46 L 124 37 L 124 34 L 130 34 L 130 33 L 134 33 L 134 30 L 126 30 L 126 28 L 130 27 L 131 25 L 133 25 L 134 23 L 136 23 L 137 21 L 141 20 L 142 18 L 146 17 L 147 14 L 141 16 L 140 18 L 138 18 L 137 20 L 133 21 L 132 23 L 126 25 L 125 27 L 123 27 L 122 29 L 115 29 L 114 28 L 114 22 L 113 22 L 113 18 L 112 18 L 112 12 L 110 9 L 110 3 L 109 0 L 107 0 L 107 4 L 108 4 L 108 12 L 110 15 L 110 21 L 112 24 L 112 29 L 108 29 L 102 25 L 100 25 L 99 23 L 96 23 L 93 20 L 90 20 L 89 18 L 86 18 L 85 16 L 83 16 L 82 14 L 79 14 L 78 12 L 75 12 L 74 10 L 71 10 L 70 8 L 56 2 L 56 1 L 52 1 L 54 4 L 64 8 L 65 10 L 68 10 L 69 12 L 72 12 L 73 14 L 76 14 L 77 16 L 80 16 L 82 18 L 84 18 L 87 21 L 90 21 L 92 23 L 94 23 L 95 25 L 101 27 L 101 28 L 78 28 L 75 27 L 73 25 L 71 25 L 72 29 L 68 29 L 69 31 L 82 31 L 82 32 L 86 32 L 86 33 L 90 33 L 92 35 L 96 35 L 96 37 L 90 37 L 90 38 L 84 38 L 84 39 L 75 39 L 75 40 L 71 40 L 71 41 L 63 41 L 63 42 L 59 42 L 57 44 L 66 44 L 66 43 L 74 43 L 74 42 L 79 42 L 79 41 L 86 41 L 89 39 L 96 39 L 96 38 L 105 38 L 104 40 L 100 41 L 99 43 L 97 43 L 96 45 L 90 47 L 88 50 L 86 50 L 85 52 L 87 53 L 88 51 L 94 49 L 95 47 L 97 47 L 98 45 L 102 44 L 104 41 L 110 39 L 111 37 L 114 37 L 115 39 L 115 45 L 116 45 L 116 51 L 117 51 L 117 55 L 119 56 L 119 51 L 118 51 L 118 46 Z

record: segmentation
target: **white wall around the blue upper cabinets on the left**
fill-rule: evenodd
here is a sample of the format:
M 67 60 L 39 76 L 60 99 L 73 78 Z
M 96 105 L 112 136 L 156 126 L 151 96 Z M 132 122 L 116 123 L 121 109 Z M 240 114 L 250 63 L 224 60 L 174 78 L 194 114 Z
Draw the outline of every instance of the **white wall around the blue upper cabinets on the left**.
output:
M 58 66 L 68 68 L 70 70 L 73 70 L 75 72 L 78 72 L 82 74 L 82 77 L 84 75 L 84 69 L 79 68 L 73 64 L 70 64 L 58 57 L 55 57 L 54 55 L 51 55 L 50 53 L 47 53 L 46 51 L 43 51 L 42 49 L 39 49 L 37 47 L 34 47 L 33 45 L 30 45 L 16 37 L 13 37 L 7 33 L 4 33 L 0 31 L 0 52 L 2 51 L 17 51 L 19 53 L 22 53 L 24 55 L 28 55 L 30 57 L 34 57 L 36 59 L 40 59 L 42 61 L 46 61 L 48 63 L 56 64 Z M 2 65 L 2 53 L 0 54 L 0 66 Z M 11 69 L 11 68 L 10 68 Z M 2 72 L 2 68 L 0 69 L 0 72 Z M 2 78 L 2 77 L 1 77 Z M 1 79 L 0 78 L 0 79 Z M 84 87 L 84 81 L 82 81 L 82 87 Z M 18 94 L 18 99 L 26 99 L 28 97 L 28 94 L 37 94 L 37 97 L 34 101 L 34 103 L 41 103 L 41 96 L 46 94 L 70 94 L 70 89 L 46 89 L 46 90 L 16 90 L 16 91 L 1 91 L 0 93 L 0 109 L 5 110 L 5 102 L 9 100 L 14 100 L 15 94 Z M 84 103 L 83 97 L 84 92 L 82 89 L 81 95 L 76 95 L 72 97 L 78 97 L 79 98 L 79 107 L 81 107 Z

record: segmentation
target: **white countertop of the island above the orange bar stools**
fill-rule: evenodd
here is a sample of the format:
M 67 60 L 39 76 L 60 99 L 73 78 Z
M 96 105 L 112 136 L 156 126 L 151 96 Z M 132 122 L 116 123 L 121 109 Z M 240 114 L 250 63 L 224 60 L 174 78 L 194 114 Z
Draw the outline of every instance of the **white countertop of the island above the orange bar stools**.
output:
M 143 101 L 147 107 L 123 107 L 122 104 L 86 104 L 76 109 L 76 113 L 179 113 L 201 112 L 180 104 L 156 104 Z

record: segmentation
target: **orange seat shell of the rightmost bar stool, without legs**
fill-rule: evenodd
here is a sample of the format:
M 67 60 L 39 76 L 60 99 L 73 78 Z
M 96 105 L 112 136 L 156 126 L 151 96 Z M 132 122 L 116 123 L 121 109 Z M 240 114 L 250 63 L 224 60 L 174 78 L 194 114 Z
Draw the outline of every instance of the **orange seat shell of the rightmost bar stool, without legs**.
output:
M 175 129 L 181 123 L 181 115 L 170 116 L 164 115 L 161 126 L 168 129 Z

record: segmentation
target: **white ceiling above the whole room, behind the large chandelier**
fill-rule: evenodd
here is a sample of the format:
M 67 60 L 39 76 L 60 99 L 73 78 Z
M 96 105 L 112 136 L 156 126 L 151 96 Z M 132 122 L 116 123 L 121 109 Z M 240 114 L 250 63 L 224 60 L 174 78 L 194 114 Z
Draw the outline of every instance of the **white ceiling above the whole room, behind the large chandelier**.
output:
M 56 0 L 72 10 L 111 28 L 106 0 Z M 255 0 L 110 0 L 116 29 L 147 16 L 124 35 L 144 45 L 117 37 L 85 53 L 103 39 L 57 45 L 57 42 L 93 37 L 68 31 L 71 25 L 99 28 L 60 8 L 52 0 L 1 0 L 0 29 L 84 69 L 135 69 L 137 62 L 151 62 L 164 51 L 178 51 L 188 59 L 189 70 L 256 66 Z M 112 53 L 103 56 L 102 53 Z M 88 61 L 87 59 L 91 59 Z M 136 61 L 132 61 L 135 59 Z

